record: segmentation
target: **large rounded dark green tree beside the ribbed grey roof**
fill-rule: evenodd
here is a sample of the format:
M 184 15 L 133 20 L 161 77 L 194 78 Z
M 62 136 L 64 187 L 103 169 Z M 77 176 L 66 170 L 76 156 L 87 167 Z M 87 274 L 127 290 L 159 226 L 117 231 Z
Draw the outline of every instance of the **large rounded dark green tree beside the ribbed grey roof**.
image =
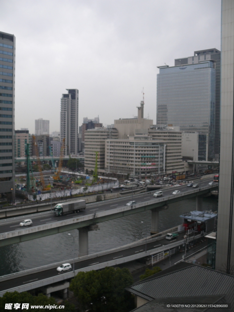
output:
M 83 310 L 127 312 L 134 308 L 133 297 L 125 290 L 132 283 L 128 269 L 106 267 L 100 271 L 79 272 L 71 280 L 70 289 Z

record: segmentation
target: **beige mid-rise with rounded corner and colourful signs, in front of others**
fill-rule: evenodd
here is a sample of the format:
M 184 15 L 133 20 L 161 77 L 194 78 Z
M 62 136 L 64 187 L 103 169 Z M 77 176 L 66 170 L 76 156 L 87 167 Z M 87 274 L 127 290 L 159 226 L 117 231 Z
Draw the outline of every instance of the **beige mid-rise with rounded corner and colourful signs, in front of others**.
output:
M 165 172 L 166 143 L 134 136 L 105 140 L 105 172 L 133 174 L 141 178 Z

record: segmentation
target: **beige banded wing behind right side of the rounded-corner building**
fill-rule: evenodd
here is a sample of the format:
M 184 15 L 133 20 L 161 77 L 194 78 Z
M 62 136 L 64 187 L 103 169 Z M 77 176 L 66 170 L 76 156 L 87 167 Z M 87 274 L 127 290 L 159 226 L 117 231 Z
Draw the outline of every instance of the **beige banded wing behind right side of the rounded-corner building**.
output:
M 165 173 L 183 173 L 185 171 L 182 161 L 182 132 L 179 127 L 151 126 L 148 131 L 153 140 L 161 139 L 166 142 Z

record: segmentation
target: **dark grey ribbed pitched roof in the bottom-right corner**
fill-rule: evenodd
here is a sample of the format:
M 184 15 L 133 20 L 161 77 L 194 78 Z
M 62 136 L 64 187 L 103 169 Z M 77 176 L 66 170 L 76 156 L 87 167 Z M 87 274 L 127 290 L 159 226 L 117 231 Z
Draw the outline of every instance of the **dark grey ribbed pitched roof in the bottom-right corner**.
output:
M 173 268 L 173 267 L 172 267 Z M 138 282 L 126 288 L 132 294 L 149 300 L 137 312 L 167 312 L 163 303 L 231 303 L 234 311 L 234 276 L 208 269 L 204 266 L 192 265 L 183 269 L 159 272 L 151 279 Z M 164 310 L 163 310 L 164 309 Z M 168 309 L 169 311 L 170 309 Z M 171 310 L 170 310 L 171 311 Z M 174 311 L 186 311 L 179 310 Z M 190 309 L 193 311 L 193 309 Z M 195 311 L 195 310 L 194 310 Z M 213 308 L 196 311 L 215 312 Z

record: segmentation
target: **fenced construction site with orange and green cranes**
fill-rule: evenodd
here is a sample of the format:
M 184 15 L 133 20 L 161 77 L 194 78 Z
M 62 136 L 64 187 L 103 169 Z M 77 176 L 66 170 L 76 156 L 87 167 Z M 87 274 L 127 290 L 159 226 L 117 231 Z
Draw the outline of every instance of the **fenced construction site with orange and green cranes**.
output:
M 79 170 L 77 170 L 76 158 L 69 157 L 68 160 L 64 160 L 64 139 L 62 141 L 61 153 L 57 164 L 53 159 L 51 150 L 51 160 L 47 161 L 47 163 L 45 163 L 45 161 L 42 163 L 34 135 L 32 135 L 32 139 L 37 160 L 32 161 L 30 159 L 29 144 L 27 144 L 26 173 L 16 174 L 17 202 L 21 202 L 22 200 L 38 201 L 59 197 L 81 196 L 118 188 L 119 182 L 117 178 L 98 176 L 98 152 L 96 152 L 95 155 L 94 171 L 92 175 L 88 175 L 82 171 L 82 164 L 80 164 Z M 71 163 L 74 163 L 74 161 L 76 162 L 76 168 L 72 168 L 71 166 Z M 68 168 L 66 167 L 68 164 L 70 164 L 70 168 L 69 166 Z

